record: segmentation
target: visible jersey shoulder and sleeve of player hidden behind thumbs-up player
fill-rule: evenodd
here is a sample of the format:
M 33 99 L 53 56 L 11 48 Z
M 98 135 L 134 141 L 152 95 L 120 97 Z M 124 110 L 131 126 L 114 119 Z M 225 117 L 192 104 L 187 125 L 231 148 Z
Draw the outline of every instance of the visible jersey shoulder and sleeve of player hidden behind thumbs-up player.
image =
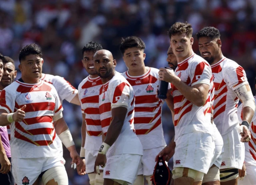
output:
M 60 97 L 61 103 L 63 100 L 67 100 L 68 102 L 71 102 L 71 100 L 78 93 L 78 90 L 76 90 L 76 88 L 74 88 L 63 77 L 43 73 L 43 76 L 40 80 L 48 82 L 55 87 L 55 89 Z

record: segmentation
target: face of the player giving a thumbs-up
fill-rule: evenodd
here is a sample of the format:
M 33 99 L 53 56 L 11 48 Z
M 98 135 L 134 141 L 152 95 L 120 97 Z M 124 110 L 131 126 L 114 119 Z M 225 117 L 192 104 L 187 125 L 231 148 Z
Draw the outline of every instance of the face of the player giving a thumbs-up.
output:
M 28 79 L 37 79 L 40 77 L 40 73 L 42 73 L 42 66 L 41 57 L 30 54 L 20 61 L 19 68 L 22 76 Z

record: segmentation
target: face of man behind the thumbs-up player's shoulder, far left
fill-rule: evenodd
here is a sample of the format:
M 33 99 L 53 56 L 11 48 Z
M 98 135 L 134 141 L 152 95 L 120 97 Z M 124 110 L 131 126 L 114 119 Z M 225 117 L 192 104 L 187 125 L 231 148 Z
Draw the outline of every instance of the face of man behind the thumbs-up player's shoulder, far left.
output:
M 3 87 L 7 87 L 11 83 L 13 83 L 14 79 L 16 78 L 17 71 L 15 71 L 15 66 L 13 63 L 8 62 L 4 64 L 4 73 L 3 77 L 0 81 Z

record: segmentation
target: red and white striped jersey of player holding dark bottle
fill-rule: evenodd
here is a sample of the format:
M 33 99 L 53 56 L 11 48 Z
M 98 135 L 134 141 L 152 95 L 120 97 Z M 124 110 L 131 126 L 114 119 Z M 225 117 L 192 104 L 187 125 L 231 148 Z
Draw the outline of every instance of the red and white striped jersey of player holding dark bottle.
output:
M 188 86 L 207 84 L 210 86 L 212 72 L 210 65 L 200 56 L 193 54 L 178 63 L 175 74 Z M 196 106 L 187 100 L 178 89 L 171 84 L 174 101 L 174 128 L 175 138 L 194 131 L 212 134 L 210 104 L 211 88 L 209 87 L 208 99 L 204 106 Z

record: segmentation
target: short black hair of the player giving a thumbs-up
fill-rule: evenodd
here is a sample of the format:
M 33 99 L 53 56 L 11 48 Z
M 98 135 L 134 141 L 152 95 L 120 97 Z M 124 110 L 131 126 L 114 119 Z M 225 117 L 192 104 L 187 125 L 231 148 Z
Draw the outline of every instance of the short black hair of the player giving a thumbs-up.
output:
M 40 47 L 35 43 L 26 45 L 22 48 L 19 54 L 19 61 L 24 60 L 28 55 L 38 55 L 41 58 L 43 56 Z

